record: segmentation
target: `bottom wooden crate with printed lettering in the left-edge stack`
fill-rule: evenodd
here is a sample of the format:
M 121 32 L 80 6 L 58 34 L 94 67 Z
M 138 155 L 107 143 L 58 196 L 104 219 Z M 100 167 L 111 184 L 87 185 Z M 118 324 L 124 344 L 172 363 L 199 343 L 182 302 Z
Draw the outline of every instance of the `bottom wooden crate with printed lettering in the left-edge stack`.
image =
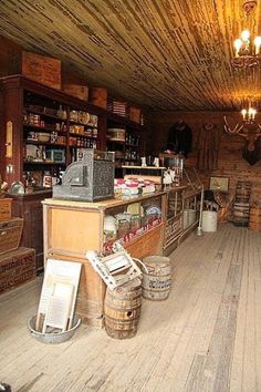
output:
M 35 251 L 19 248 L 0 256 L 0 293 L 36 276 Z

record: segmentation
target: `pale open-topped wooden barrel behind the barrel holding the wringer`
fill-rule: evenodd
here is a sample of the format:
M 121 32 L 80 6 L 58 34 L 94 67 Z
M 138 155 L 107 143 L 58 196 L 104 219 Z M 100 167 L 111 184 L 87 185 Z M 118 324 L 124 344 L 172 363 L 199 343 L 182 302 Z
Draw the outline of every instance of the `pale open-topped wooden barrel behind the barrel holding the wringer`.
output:
M 171 267 L 168 257 L 148 256 L 143 259 L 143 297 L 152 301 L 164 301 L 171 287 Z

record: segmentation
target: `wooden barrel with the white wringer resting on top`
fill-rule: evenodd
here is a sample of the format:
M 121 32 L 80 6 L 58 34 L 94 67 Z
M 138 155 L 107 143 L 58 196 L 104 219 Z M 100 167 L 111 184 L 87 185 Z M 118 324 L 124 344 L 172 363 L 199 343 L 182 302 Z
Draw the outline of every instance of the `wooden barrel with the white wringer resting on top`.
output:
M 139 279 L 130 280 L 106 290 L 104 313 L 105 330 L 111 338 L 127 339 L 137 332 L 142 309 L 142 286 Z

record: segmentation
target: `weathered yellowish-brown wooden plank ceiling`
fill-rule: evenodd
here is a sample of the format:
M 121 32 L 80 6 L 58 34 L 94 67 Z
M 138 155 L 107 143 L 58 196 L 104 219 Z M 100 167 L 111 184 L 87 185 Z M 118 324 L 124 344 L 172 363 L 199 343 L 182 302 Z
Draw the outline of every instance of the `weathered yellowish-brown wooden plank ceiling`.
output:
M 261 34 L 260 2 L 248 23 Z M 236 73 L 241 0 L 1 0 L 0 34 L 155 110 L 234 110 L 261 74 Z

